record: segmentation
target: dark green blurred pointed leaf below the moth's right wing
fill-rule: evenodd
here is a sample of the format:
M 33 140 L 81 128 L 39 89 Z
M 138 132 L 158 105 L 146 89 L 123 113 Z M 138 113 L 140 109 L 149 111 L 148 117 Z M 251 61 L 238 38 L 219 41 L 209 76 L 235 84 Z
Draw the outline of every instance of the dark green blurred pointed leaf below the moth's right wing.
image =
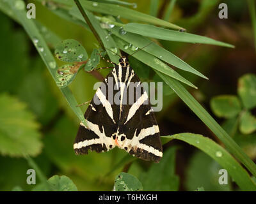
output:
M 144 191 L 178 191 L 179 177 L 175 175 L 176 147 L 164 151 L 159 164 L 152 164 L 148 172 L 141 174 Z

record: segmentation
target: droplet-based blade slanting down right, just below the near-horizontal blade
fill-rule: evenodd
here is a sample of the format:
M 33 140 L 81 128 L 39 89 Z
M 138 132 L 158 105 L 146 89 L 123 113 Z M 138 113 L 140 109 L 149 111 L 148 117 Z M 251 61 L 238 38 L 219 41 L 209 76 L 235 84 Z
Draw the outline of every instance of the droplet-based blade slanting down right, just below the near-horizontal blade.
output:
M 124 52 L 126 52 L 126 50 L 129 48 L 129 44 L 131 43 L 135 47 L 143 48 L 143 50 L 145 52 L 148 52 L 148 54 L 152 54 L 155 57 L 161 59 L 162 61 L 167 62 L 168 64 L 172 64 L 179 69 L 194 73 L 195 75 L 198 75 L 202 78 L 207 78 L 202 75 L 202 73 L 189 66 L 189 64 L 182 61 L 182 59 L 180 59 L 176 55 L 172 54 L 168 50 L 165 50 L 163 47 L 160 47 L 156 43 L 152 43 L 152 41 L 148 40 L 148 38 L 145 38 L 144 36 L 140 36 L 138 34 L 127 33 L 126 31 L 123 31 L 124 29 L 120 27 L 113 27 L 113 29 L 111 29 L 111 32 L 113 34 L 115 34 L 122 40 L 127 41 L 127 45 L 124 45 Z

